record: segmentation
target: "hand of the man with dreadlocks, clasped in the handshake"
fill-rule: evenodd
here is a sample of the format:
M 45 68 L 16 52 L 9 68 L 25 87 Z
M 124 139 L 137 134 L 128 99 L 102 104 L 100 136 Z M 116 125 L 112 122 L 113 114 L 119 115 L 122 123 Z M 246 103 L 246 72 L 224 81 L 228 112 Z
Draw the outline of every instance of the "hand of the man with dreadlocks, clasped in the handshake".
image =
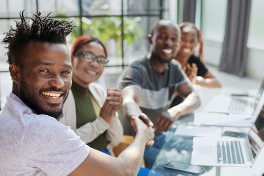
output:
M 153 123 L 148 119 L 148 117 L 141 113 L 138 117 L 132 116 L 130 119 L 130 123 L 132 126 L 132 129 L 135 134 L 141 134 L 145 136 L 146 138 L 146 145 L 151 146 L 154 144 L 153 138 L 154 138 L 154 129 Z M 149 122 L 150 121 L 150 122 Z M 148 124 L 148 126 L 146 125 Z

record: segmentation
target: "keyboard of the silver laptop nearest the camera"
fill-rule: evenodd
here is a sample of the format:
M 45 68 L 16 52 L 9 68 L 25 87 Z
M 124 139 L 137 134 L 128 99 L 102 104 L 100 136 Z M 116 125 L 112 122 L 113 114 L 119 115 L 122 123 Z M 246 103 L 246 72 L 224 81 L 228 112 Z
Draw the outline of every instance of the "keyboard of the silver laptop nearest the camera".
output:
M 244 164 L 240 141 L 217 141 L 217 162 Z

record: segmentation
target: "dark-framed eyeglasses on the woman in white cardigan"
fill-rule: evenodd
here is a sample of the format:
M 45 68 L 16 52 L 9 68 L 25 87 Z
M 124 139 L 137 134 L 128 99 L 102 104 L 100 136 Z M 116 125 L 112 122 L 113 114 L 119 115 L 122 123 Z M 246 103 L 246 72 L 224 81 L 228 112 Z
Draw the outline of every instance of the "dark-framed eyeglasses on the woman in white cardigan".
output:
M 79 55 L 82 55 L 81 58 L 87 62 L 94 62 L 96 60 L 97 63 L 99 63 L 102 66 L 105 66 L 109 62 L 107 58 L 103 56 L 95 56 L 90 51 L 77 52 L 74 54 L 74 56 L 79 56 Z

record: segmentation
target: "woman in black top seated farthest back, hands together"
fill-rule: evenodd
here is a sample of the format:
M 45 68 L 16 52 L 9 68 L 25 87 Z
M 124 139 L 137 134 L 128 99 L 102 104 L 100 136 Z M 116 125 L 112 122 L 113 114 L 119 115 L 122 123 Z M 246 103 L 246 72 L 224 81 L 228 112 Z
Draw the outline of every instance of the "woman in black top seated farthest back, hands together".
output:
M 199 40 L 202 40 L 201 32 L 192 23 L 182 23 L 180 28 L 182 41 L 175 59 L 182 64 L 184 71 L 194 84 L 209 88 L 221 87 L 218 79 L 206 68 L 200 57 L 194 55 Z M 200 42 L 200 47 L 201 45 Z

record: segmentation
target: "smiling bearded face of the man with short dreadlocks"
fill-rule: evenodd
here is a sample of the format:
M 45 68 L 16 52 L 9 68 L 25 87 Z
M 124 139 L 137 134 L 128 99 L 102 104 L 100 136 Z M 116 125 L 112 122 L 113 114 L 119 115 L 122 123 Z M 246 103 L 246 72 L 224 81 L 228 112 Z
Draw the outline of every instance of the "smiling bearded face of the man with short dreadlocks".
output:
M 18 90 L 21 100 L 37 114 L 56 119 L 71 86 L 71 62 L 65 44 L 31 41 L 20 67 Z

